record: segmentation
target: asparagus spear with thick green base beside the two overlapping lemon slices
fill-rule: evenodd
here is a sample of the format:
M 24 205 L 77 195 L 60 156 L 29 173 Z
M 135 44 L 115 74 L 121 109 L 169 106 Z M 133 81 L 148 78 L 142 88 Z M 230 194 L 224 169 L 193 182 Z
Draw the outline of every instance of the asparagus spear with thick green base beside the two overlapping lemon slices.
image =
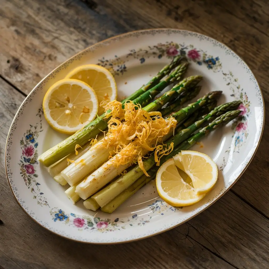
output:
M 162 80 L 156 86 L 141 94 L 139 97 L 134 99 L 133 102 L 136 104 L 140 104 L 141 106 L 147 105 L 153 100 L 153 98 L 157 94 L 159 94 L 163 89 L 165 89 L 165 87 L 177 80 L 180 80 L 183 74 L 186 72 L 187 66 L 188 63 L 182 63 L 166 79 Z M 94 121 L 88 123 L 81 130 L 77 131 L 72 136 L 69 136 L 56 146 L 45 151 L 38 157 L 38 160 L 42 162 L 46 167 L 48 167 L 70 154 L 74 150 L 76 144 L 82 146 L 90 139 L 96 137 L 97 134 L 107 128 L 108 119 L 105 119 L 105 115 L 109 112 L 110 111 L 105 112 L 101 116 L 97 117 Z

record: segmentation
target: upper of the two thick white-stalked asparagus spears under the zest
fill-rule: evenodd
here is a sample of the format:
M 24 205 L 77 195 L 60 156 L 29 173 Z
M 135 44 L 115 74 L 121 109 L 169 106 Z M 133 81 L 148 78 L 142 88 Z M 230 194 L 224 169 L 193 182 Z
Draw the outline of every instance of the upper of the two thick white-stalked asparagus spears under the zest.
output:
M 148 112 L 157 110 L 158 108 L 162 107 L 162 103 L 165 100 L 169 100 L 172 95 L 174 94 L 179 95 L 182 92 L 185 92 L 189 86 L 192 87 L 193 85 L 199 83 L 201 79 L 202 79 L 201 76 L 192 76 L 183 79 L 181 82 L 175 85 L 170 91 L 162 95 L 160 98 L 154 100 L 151 103 L 150 107 L 146 106 L 143 109 Z M 89 175 L 91 172 L 93 172 L 95 169 L 100 167 L 100 165 L 104 164 L 108 160 L 108 157 L 110 155 L 109 152 L 114 150 L 114 146 L 112 145 L 110 148 L 104 148 L 102 147 L 102 143 L 103 141 L 101 140 L 100 142 L 95 144 L 95 146 L 92 147 L 89 151 L 87 151 L 87 153 L 83 154 L 80 158 L 76 160 L 76 162 L 70 164 L 61 172 L 61 175 L 65 178 L 65 180 L 68 182 L 69 185 L 72 186 L 76 184 L 77 182 L 82 180 L 85 176 Z M 106 168 L 106 170 L 108 170 L 108 167 Z

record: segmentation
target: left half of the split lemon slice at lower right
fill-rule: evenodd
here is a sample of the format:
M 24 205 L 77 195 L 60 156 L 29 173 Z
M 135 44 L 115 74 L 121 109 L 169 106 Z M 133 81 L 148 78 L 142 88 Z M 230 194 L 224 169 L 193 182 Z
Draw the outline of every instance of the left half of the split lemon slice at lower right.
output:
M 182 171 L 181 171 L 182 172 Z M 156 175 L 157 191 L 171 206 L 190 206 L 200 201 L 205 194 L 197 194 L 191 179 L 177 169 L 173 158 L 166 161 Z

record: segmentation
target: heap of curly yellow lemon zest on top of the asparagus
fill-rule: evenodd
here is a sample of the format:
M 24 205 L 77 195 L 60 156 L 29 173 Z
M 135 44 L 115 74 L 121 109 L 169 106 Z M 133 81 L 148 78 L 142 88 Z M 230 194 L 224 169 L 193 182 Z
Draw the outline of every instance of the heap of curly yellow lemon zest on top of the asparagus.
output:
M 162 137 L 172 131 L 171 128 L 174 131 L 176 127 L 174 118 L 164 119 L 160 112 L 147 112 L 141 108 L 141 105 L 134 104 L 132 101 L 126 101 L 122 108 L 122 103 L 114 100 L 105 105 L 105 109 L 110 111 L 106 114 L 110 119 L 102 146 L 114 147 L 116 155 L 112 159 L 112 164 L 115 167 L 138 162 L 138 159 L 141 165 L 142 157 L 148 151 L 158 150 L 156 154 L 161 154 L 161 157 L 169 151 L 161 151 L 162 148 L 158 145 L 162 144 Z M 161 157 L 156 156 L 157 162 L 160 163 Z M 112 154 L 109 156 L 109 159 L 111 158 Z

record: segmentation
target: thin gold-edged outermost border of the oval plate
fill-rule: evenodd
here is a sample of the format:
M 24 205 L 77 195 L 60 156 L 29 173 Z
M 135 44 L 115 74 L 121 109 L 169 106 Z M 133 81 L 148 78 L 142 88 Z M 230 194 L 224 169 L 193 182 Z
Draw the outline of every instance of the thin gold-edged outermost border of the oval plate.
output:
M 68 237 L 68 235 L 66 235 L 66 234 L 60 234 L 60 233 L 57 233 L 57 232 L 53 231 L 52 229 L 50 229 L 49 226 L 48 226 L 48 227 L 44 226 L 44 225 L 42 224 L 42 222 L 39 222 L 38 220 L 36 220 L 35 218 L 33 218 L 33 217 L 27 212 L 26 208 L 24 208 L 24 207 L 22 206 L 22 204 L 20 203 L 20 201 L 19 201 L 18 198 L 16 197 L 16 195 L 15 195 L 13 189 L 12 189 L 12 186 L 11 186 L 11 183 L 10 183 L 10 180 L 9 180 L 9 177 L 8 177 L 7 158 L 6 158 L 6 156 L 7 156 L 6 153 L 7 153 L 7 148 L 8 148 L 8 139 L 9 139 L 9 136 L 10 136 L 10 132 L 11 132 L 11 130 L 12 130 L 12 126 L 13 126 L 13 124 L 14 124 L 14 122 L 15 122 L 15 120 L 16 120 L 16 118 L 17 118 L 19 112 L 20 112 L 20 109 L 23 107 L 24 103 L 28 100 L 28 98 L 30 97 L 30 95 L 37 89 L 37 87 L 38 87 L 44 80 L 46 80 L 46 79 L 47 79 L 47 78 L 48 78 L 48 77 L 49 77 L 55 70 L 57 70 L 57 69 L 58 69 L 59 67 L 61 67 L 62 65 L 66 64 L 66 63 L 67 63 L 68 61 L 70 61 L 72 58 L 75 58 L 77 55 L 82 54 L 83 52 L 85 52 L 85 51 L 87 51 L 87 50 L 91 50 L 91 49 L 94 50 L 94 47 L 98 48 L 98 46 L 101 45 L 102 43 L 103 43 L 103 44 L 106 44 L 108 41 L 113 41 L 113 40 L 116 41 L 118 38 L 124 38 L 124 37 L 128 37 L 128 36 L 132 36 L 132 34 L 135 36 L 136 33 L 137 33 L 137 34 L 144 33 L 144 32 L 156 32 L 156 33 L 158 33 L 158 31 L 163 31 L 163 32 L 166 32 L 166 31 L 167 31 L 167 33 L 169 33 L 169 31 L 171 31 L 171 32 L 179 31 L 179 32 L 185 32 L 185 33 L 187 33 L 187 34 L 194 34 L 194 35 L 196 34 L 196 35 L 204 36 L 204 37 L 210 39 L 211 41 L 215 41 L 215 42 L 217 42 L 217 43 L 219 43 L 219 44 L 222 44 L 224 47 L 226 47 L 226 49 L 228 49 L 230 52 L 232 52 L 234 55 L 236 55 L 236 56 L 238 57 L 238 59 L 239 59 L 240 61 L 242 61 L 242 62 L 245 64 L 245 66 L 249 69 L 249 71 L 252 73 L 253 78 L 254 78 L 254 80 L 256 81 L 257 86 L 258 86 L 258 88 L 259 88 L 259 91 L 260 91 L 260 97 L 261 97 L 261 100 L 262 100 L 262 106 L 263 106 L 263 122 L 262 122 L 262 124 L 261 124 L 261 126 L 260 126 L 260 128 L 259 128 L 259 129 L 260 129 L 259 139 L 257 140 L 257 144 L 256 144 L 256 146 L 254 146 L 255 148 L 254 148 L 254 150 L 253 150 L 252 156 L 249 158 L 249 161 L 245 164 L 245 167 L 242 169 L 242 171 L 241 171 L 240 174 L 237 176 L 237 178 L 236 178 L 236 179 L 235 179 L 235 180 L 234 180 L 234 181 L 233 181 L 233 182 L 232 182 L 226 189 L 222 190 L 222 193 L 219 193 L 219 194 L 217 195 L 217 198 L 216 198 L 216 199 L 214 199 L 213 201 L 211 201 L 210 203 L 208 203 L 204 208 L 202 208 L 201 210 L 199 210 L 199 212 L 197 212 L 196 214 L 190 216 L 189 218 L 186 218 L 186 220 L 181 221 L 180 223 L 177 223 L 177 224 L 175 224 L 175 225 L 172 224 L 170 227 L 165 227 L 165 229 L 162 229 L 162 230 L 160 230 L 160 231 L 156 231 L 156 232 L 153 232 L 153 233 L 149 233 L 148 235 L 143 236 L 143 237 L 139 237 L 139 236 L 138 236 L 138 237 L 132 238 L 132 239 L 130 239 L 130 240 L 119 240 L 119 241 L 117 240 L 117 241 L 115 241 L 115 242 L 85 242 L 85 241 L 80 240 L 80 239 L 70 238 L 70 237 Z M 6 170 L 7 181 L 8 181 L 9 187 L 10 187 L 10 189 L 11 189 L 11 191 L 12 191 L 12 194 L 14 195 L 14 197 L 15 197 L 17 203 L 18 203 L 18 204 L 20 205 L 20 207 L 24 210 L 24 212 L 25 212 L 31 219 L 33 219 L 35 222 L 37 222 L 40 226 L 44 227 L 44 228 L 47 229 L 48 231 L 50 231 L 50 232 L 52 232 L 52 233 L 54 233 L 54 234 L 56 234 L 56 235 L 58 235 L 58 236 L 61 236 L 61 237 L 63 237 L 63 238 L 69 239 L 69 240 L 77 241 L 77 242 L 91 243 L 91 244 L 116 244 L 116 243 L 132 242 L 132 241 L 136 241 L 136 240 L 140 240 L 140 239 L 148 238 L 148 237 L 150 237 L 150 236 L 154 236 L 154 235 L 157 235 L 157 234 L 159 234 L 159 233 L 162 233 L 162 232 L 168 231 L 168 230 L 170 230 L 170 229 L 173 229 L 173 228 L 175 228 L 176 226 L 178 226 L 178 225 L 180 225 L 180 224 L 183 224 L 183 223 L 185 223 L 186 221 L 190 220 L 191 218 L 195 217 L 196 215 L 198 215 L 199 213 L 201 213 L 202 211 L 204 211 L 206 208 L 208 208 L 211 204 L 215 203 L 215 201 L 217 201 L 220 197 L 222 197 L 222 195 L 224 195 L 224 194 L 225 194 L 225 193 L 226 193 L 226 192 L 227 192 L 227 191 L 228 191 L 228 190 L 229 190 L 229 189 L 230 189 L 230 188 L 237 182 L 237 180 L 238 180 L 238 179 L 242 176 L 242 174 L 246 171 L 246 169 L 247 169 L 247 167 L 249 166 L 250 162 L 253 160 L 253 157 L 254 157 L 254 155 L 256 154 L 256 151 L 257 151 L 257 149 L 258 149 L 258 147 L 259 147 L 259 144 L 260 144 L 260 141 L 261 141 L 261 137 L 262 137 L 262 134 L 263 134 L 264 123 L 265 123 L 265 109 L 264 109 L 264 107 L 265 107 L 265 105 L 264 105 L 264 98 L 263 98 L 263 94 L 262 94 L 260 85 L 259 85 L 259 83 L 258 83 L 256 77 L 254 76 L 253 72 L 252 72 L 251 69 L 249 68 L 249 66 L 248 66 L 248 65 L 245 63 L 245 61 L 243 61 L 243 59 L 242 59 L 240 56 L 238 56 L 238 55 L 237 55 L 231 48 L 229 48 L 227 45 L 221 43 L 220 41 L 215 40 L 214 38 L 208 37 L 208 36 L 206 36 L 206 35 L 203 35 L 203 34 L 200 34 L 200 33 L 194 32 L 194 31 L 183 30 L 183 29 L 170 29 L 170 28 L 156 28 L 156 29 L 137 30 L 137 31 L 131 31 L 131 32 L 128 32 L 128 33 L 124 33 L 124 34 L 120 34 L 120 35 L 117 35 L 117 36 L 113 36 L 113 37 L 107 38 L 107 39 L 105 39 L 105 40 L 102 40 L 102 41 L 100 41 L 100 42 L 98 42 L 98 43 L 95 43 L 95 44 L 91 45 L 90 47 L 87 47 L 87 48 L 83 49 L 82 51 L 78 52 L 77 54 L 71 56 L 71 57 L 70 57 L 69 59 L 67 59 L 65 62 L 61 63 L 61 64 L 60 64 L 59 66 L 57 66 L 54 70 L 52 70 L 50 73 L 48 73 L 48 75 L 45 76 L 40 82 L 38 82 L 38 83 L 36 84 L 36 86 L 33 88 L 33 90 L 31 90 L 30 93 L 26 96 L 25 100 L 22 102 L 22 104 L 21 104 L 20 107 L 18 108 L 18 110 L 17 110 L 17 112 L 16 112 L 16 114 L 15 114 L 13 120 L 12 120 L 12 123 L 11 123 L 10 128 L 9 128 L 9 132 L 8 132 L 8 135 L 7 135 L 7 141 L 6 141 L 6 147 L 5 147 L 5 170 Z

